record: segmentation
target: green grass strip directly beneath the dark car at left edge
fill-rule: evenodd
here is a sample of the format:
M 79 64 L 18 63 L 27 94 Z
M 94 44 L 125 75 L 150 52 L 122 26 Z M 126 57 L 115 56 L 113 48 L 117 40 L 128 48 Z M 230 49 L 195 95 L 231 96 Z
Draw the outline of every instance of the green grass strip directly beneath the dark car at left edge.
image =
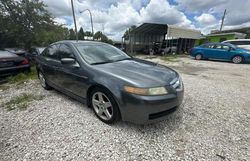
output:
M 15 76 L 10 76 L 8 78 L 8 82 L 10 84 L 20 85 L 20 84 L 23 84 L 24 82 L 26 82 L 30 79 L 33 80 L 36 78 L 37 78 L 36 67 L 32 66 L 30 68 L 30 72 L 24 72 L 24 73 L 19 73 L 18 75 L 15 75 Z

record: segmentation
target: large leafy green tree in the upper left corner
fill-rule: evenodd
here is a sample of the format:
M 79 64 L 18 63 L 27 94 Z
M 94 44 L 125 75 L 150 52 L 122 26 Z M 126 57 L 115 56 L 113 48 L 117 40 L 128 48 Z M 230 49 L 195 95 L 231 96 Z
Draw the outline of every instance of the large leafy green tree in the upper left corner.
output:
M 1 0 L 1 42 L 7 40 L 10 44 L 25 48 L 33 45 L 37 33 L 55 25 L 45 7 L 39 0 Z

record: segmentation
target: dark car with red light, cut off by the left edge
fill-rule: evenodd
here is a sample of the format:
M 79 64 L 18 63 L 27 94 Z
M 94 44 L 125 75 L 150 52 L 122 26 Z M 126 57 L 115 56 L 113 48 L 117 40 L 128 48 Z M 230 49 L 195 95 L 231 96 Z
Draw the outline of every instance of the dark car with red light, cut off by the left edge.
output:
M 30 64 L 27 58 L 8 51 L 0 51 L 0 77 L 23 71 L 30 71 Z

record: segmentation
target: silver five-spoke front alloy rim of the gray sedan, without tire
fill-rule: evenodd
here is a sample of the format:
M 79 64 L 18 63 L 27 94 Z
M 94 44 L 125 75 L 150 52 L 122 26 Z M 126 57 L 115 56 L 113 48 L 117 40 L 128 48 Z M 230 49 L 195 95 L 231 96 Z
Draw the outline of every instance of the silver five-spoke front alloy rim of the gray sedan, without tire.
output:
M 111 120 L 113 117 L 113 106 L 109 98 L 102 92 L 96 92 L 92 96 L 92 105 L 95 113 L 103 120 Z

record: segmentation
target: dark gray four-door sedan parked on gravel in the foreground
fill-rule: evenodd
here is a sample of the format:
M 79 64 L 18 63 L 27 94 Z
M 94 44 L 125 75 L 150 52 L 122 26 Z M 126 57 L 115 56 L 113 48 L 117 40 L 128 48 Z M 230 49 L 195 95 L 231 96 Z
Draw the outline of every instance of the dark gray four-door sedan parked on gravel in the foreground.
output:
M 60 41 L 36 57 L 45 89 L 54 88 L 92 107 L 105 123 L 144 124 L 166 117 L 183 100 L 174 70 L 132 58 L 101 42 Z

